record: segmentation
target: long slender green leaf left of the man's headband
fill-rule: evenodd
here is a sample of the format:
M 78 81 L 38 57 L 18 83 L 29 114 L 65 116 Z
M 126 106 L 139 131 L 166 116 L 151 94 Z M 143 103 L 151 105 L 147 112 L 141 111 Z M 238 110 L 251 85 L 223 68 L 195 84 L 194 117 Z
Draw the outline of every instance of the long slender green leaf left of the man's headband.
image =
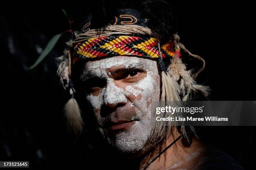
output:
M 34 67 L 36 67 L 42 60 L 44 60 L 44 58 L 49 54 L 49 52 L 51 52 L 51 50 L 53 49 L 53 47 L 55 46 L 55 44 L 57 43 L 57 41 L 59 40 L 59 38 L 61 37 L 61 34 L 57 34 L 54 35 L 54 37 L 51 38 L 51 40 L 48 42 L 48 44 L 46 45 L 44 51 L 41 53 L 41 55 L 38 57 L 38 59 L 36 60 L 36 62 L 28 68 L 28 70 L 33 69 Z

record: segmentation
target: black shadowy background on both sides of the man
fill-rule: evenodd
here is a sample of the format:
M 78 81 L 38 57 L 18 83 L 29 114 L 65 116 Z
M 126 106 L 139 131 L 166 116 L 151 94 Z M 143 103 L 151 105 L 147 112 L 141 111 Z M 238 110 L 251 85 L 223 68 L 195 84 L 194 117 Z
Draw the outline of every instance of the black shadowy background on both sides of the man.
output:
M 54 58 L 61 55 L 66 39 L 61 38 L 38 67 L 27 70 L 51 37 L 69 29 L 61 8 L 77 17 L 87 3 L 1 7 L 0 160 L 28 160 L 33 168 L 87 163 L 88 155 L 67 132 L 62 113 L 67 96 L 56 76 Z M 210 100 L 256 100 L 252 3 L 172 3 L 181 42 L 206 61 L 198 82 L 211 87 Z M 246 169 L 254 167 L 255 127 L 204 127 L 202 134 L 205 142 L 224 150 Z

